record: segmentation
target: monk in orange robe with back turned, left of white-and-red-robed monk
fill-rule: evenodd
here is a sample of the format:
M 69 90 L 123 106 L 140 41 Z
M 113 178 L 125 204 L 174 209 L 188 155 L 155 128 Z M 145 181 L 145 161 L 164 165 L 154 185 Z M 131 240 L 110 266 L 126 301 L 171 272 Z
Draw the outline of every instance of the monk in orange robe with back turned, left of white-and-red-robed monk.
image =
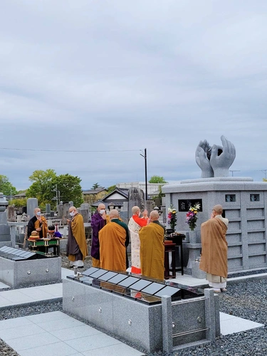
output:
M 110 223 L 99 231 L 100 268 L 126 271 L 126 248 L 129 244 L 127 225 L 120 221 L 116 209 L 110 211 Z

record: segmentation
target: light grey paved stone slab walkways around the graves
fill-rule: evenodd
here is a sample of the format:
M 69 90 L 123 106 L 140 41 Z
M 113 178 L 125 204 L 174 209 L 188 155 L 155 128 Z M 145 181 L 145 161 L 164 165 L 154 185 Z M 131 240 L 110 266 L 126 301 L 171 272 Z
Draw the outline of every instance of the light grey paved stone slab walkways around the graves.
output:
M 62 278 L 73 274 L 62 268 Z M 250 276 L 251 277 L 251 276 Z M 253 277 L 253 276 L 252 276 Z M 252 278 L 251 277 L 251 278 Z M 259 277 L 255 275 L 255 278 Z M 246 277 L 229 278 L 229 283 Z M 186 286 L 205 285 L 206 280 L 181 276 L 171 281 Z M 62 298 L 62 283 L 8 290 L 0 283 L 0 309 L 6 306 Z M 239 333 L 263 326 L 251 320 L 220 313 L 221 334 Z M 60 311 L 0 321 L 0 337 L 21 356 L 141 356 L 142 352 L 105 335 Z

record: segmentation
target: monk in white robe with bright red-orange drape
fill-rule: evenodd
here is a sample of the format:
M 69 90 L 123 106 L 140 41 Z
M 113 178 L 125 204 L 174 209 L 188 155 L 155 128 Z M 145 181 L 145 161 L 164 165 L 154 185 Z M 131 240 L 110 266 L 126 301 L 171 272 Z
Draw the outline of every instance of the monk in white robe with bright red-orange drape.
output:
M 131 236 L 131 258 L 132 273 L 141 273 L 140 265 L 140 238 L 139 231 L 141 227 L 147 226 L 147 210 L 144 210 L 143 216 L 140 217 L 141 211 L 138 206 L 132 206 L 132 217 L 129 220 L 128 229 Z

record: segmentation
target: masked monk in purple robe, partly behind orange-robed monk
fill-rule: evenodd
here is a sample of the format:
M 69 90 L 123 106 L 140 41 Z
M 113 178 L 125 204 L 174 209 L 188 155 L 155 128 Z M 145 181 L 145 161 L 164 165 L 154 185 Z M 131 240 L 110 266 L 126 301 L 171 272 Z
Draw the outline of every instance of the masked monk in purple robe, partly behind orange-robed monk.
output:
M 100 268 L 99 231 L 108 224 L 110 216 L 105 213 L 105 204 L 99 204 L 91 219 L 92 228 L 92 266 Z

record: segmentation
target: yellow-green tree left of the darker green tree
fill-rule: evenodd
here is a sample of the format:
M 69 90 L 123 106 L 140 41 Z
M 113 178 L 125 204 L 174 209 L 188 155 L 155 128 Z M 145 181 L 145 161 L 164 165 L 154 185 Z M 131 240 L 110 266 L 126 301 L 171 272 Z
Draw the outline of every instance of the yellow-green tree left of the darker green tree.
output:
M 37 198 L 38 204 L 42 206 L 46 203 L 51 203 L 56 195 L 56 172 L 54 169 L 36 170 L 28 179 L 33 184 L 27 189 L 26 197 Z

